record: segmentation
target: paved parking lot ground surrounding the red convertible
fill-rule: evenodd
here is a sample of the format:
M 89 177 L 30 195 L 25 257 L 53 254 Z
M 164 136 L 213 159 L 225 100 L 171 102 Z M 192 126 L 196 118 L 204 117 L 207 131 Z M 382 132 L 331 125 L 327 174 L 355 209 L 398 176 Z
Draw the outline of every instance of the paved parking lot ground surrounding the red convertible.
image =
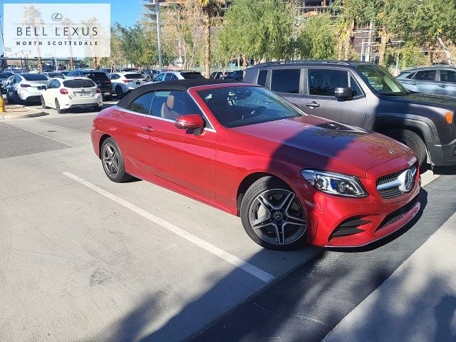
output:
M 274 335 L 266 318 L 259 333 L 264 309 L 284 318 L 293 302 L 296 317 L 314 312 L 306 341 L 320 341 L 456 211 L 456 176 L 426 172 L 422 212 L 389 244 L 269 251 L 238 217 L 148 182 L 110 182 L 90 142 L 95 113 L 46 112 L 0 121 L 0 341 L 258 341 Z M 440 211 L 431 198 L 445 201 Z M 381 262 L 381 276 L 363 279 Z M 348 278 L 350 265 L 359 267 Z M 339 279 L 363 285 L 337 299 Z M 328 321 L 310 305 L 326 294 L 340 309 Z

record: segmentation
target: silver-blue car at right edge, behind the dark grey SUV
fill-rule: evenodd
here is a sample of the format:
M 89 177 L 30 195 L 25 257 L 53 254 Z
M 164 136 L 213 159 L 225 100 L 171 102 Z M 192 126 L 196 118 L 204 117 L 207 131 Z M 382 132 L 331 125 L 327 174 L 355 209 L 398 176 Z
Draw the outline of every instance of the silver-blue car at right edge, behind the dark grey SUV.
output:
M 456 96 L 456 68 L 414 68 L 396 78 L 405 88 L 426 94 Z

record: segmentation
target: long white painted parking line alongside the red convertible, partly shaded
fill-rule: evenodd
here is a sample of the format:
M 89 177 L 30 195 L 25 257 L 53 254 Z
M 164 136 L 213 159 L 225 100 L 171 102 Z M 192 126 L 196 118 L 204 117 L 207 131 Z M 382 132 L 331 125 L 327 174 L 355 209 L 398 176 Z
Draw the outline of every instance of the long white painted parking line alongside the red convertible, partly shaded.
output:
M 195 237 L 195 235 L 192 235 L 189 232 L 186 232 L 184 229 L 176 227 L 174 224 L 171 224 L 170 222 L 166 222 L 164 219 L 160 219 L 160 217 L 156 217 L 155 215 L 150 214 L 150 212 L 146 212 L 144 209 L 141 209 L 140 207 L 135 206 L 135 204 L 125 201 L 125 199 L 122 199 L 116 195 L 113 195 L 110 192 L 103 190 L 100 187 L 94 185 L 93 183 L 90 183 L 87 180 L 83 180 L 83 178 L 73 175 L 70 172 L 62 172 L 62 173 L 66 177 L 69 177 L 72 180 L 76 180 L 76 182 L 79 182 L 82 185 L 85 185 L 86 187 L 90 188 L 91 190 L 98 192 L 100 195 L 103 195 L 104 197 L 108 197 L 109 199 L 112 199 L 114 202 L 117 202 L 118 204 L 122 205 L 123 207 L 130 209 L 132 212 L 135 212 L 136 214 L 144 217 L 145 219 L 148 219 L 151 222 L 158 224 L 160 227 L 163 227 L 163 228 L 169 230 L 170 232 L 173 232 L 173 233 L 179 235 L 183 239 L 186 239 L 187 241 L 192 242 L 192 244 L 196 244 L 198 247 L 201 247 L 202 249 L 206 250 L 207 252 L 214 254 L 215 256 L 219 257 L 220 259 L 224 259 L 224 261 L 228 261 L 230 264 L 233 264 L 234 266 L 239 267 L 239 269 L 243 269 L 247 273 L 252 274 L 252 276 L 256 276 L 261 281 L 264 281 L 265 283 L 267 283 L 274 279 L 274 276 L 272 274 L 269 274 L 266 271 L 259 269 L 257 266 L 249 264 L 247 261 L 239 259 L 238 257 L 235 257 L 234 255 L 229 254 L 228 252 L 225 252 L 223 249 L 219 249 L 219 247 L 216 247 L 213 244 L 209 244 L 209 242 L 205 242 L 203 239 L 199 239 L 199 237 Z

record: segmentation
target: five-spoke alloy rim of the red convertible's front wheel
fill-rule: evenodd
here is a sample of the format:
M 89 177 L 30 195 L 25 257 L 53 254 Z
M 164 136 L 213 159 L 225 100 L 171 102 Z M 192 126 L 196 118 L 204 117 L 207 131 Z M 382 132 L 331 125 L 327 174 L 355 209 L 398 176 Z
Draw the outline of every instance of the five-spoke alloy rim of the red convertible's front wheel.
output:
M 250 205 L 249 223 L 260 239 L 279 245 L 295 242 L 307 229 L 299 199 L 286 189 L 261 192 Z

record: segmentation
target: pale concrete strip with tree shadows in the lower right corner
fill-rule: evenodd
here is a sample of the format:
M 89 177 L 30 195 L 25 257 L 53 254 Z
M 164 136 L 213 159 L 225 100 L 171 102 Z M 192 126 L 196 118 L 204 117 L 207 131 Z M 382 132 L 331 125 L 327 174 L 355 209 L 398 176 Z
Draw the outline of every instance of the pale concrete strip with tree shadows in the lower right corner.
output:
M 456 213 L 325 342 L 456 341 Z

